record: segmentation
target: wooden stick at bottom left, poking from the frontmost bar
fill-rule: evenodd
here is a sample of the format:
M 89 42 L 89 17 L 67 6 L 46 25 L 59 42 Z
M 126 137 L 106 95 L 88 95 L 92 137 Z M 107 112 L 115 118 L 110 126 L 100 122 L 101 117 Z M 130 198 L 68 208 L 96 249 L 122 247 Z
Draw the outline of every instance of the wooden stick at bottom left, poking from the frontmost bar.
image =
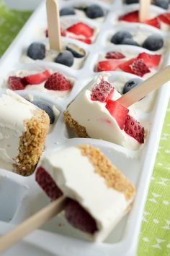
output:
M 50 205 L 35 213 L 26 221 L 23 221 L 19 226 L 14 228 L 12 231 L 9 231 L 9 233 L 1 236 L 0 253 L 4 252 L 4 250 L 11 247 L 13 244 L 19 242 L 24 236 L 30 234 L 30 232 L 42 226 L 42 224 L 50 220 L 50 218 L 53 218 L 60 213 L 65 207 L 67 201 L 68 198 L 60 197 L 58 200 L 51 202 Z

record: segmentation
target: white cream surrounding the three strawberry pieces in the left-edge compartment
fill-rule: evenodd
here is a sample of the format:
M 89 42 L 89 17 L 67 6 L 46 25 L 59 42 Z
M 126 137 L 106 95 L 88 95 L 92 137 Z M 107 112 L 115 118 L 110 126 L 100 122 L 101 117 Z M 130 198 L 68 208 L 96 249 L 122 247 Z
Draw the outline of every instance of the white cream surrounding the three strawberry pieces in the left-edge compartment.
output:
M 36 71 L 36 70 L 34 70 L 34 71 L 17 70 L 17 71 L 11 72 L 10 74 L 8 74 L 7 77 L 4 78 L 4 82 L 1 82 L 2 88 L 9 88 L 9 84 L 8 84 L 8 77 L 9 76 L 25 77 L 25 76 L 29 76 L 31 74 L 38 74 L 40 72 L 42 72 L 42 71 L 40 71 L 40 70 L 38 70 L 38 71 Z M 50 72 L 50 74 L 54 73 L 54 71 L 52 71 L 52 70 L 49 70 L 49 72 Z M 58 71 L 55 71 L 55 72 L 58 72 Z M 71 79 L 71 77 L 67 77 L 67 79 L 71 82 L 71 85 L 73 85 L 73 79 Z M 46 82 L 46 80 L 45 80 L 45 82 Z M 63 90 L 63 91 L 48 90 L 48 89 L 45 88 L 45 82 L 41 82 L 38 85 L 27 85 L 24 90 L 40 91 L 41 93 L 51 95 L 55 98 L 66 97 L 71 92 L 71 90 Z

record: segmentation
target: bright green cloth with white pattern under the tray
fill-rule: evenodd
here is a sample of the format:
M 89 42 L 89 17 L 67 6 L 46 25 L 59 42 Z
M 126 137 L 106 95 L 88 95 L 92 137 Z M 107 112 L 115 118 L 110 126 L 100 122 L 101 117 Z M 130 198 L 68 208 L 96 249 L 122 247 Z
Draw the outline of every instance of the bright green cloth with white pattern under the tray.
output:
M 0 0 L 0 56 L 29 16 L 9 10 Z M 147 255 L 170 256 L 170 103 L 140 230 L 138 256 Z

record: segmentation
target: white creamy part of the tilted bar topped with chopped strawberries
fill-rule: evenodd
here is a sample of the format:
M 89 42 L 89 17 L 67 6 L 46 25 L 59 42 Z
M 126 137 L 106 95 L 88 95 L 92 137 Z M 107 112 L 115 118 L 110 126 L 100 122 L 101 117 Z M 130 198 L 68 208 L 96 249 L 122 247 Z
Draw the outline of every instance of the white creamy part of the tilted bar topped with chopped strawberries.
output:
M 104 80 L 107 80 L 107 76 L 106 74 L 103 75 Z M 88 88 L 85 88 L 79 93 L 76 99 L 68 106 L 67 110 L 71 118 L 77 121 L 82 127 L 85 127 L 86 133 L 91 138 L 107 140 L 130 150 L 138 150 L 141 144 L 124 130 L 120 129 L 115 118 L 105 108 L 106 103 L 91 101 L 92 88 L 101 79 L 102 75 L 94 77 L 94 80 L 89 83 Z M 120 93 L 114 90 L 112 100 L 115 101 L 120 96 Z M 129 114 L 135 118 L 135 107 L 130 106 L 129 110 Z

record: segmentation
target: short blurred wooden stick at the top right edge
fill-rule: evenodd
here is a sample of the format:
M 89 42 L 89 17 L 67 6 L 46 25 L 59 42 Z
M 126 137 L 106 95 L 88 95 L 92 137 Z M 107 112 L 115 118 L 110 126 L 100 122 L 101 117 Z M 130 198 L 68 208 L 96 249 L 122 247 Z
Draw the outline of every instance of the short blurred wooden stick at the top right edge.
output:
M 151 0 L 140 0 L 139 21 L 144 22 L 150 17 Z

